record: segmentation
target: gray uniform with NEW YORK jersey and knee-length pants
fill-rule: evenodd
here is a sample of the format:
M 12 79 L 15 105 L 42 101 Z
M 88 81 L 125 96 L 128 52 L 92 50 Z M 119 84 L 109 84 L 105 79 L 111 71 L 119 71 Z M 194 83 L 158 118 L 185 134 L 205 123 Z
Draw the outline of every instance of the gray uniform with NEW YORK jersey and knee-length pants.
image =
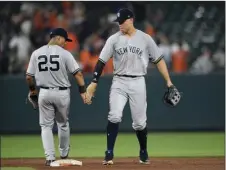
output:
M 129 99 L 132 126 L 135 130 L 143 130 L 147 119 L 144 75 L 149 60 L 157 63 L 163 55 L 151 36 L 136 30 L 132 37 L 119 31 L 108 38 L 99 60 L 106 63 L 110 57 L 113 57 L 115 76 L 110 90 L 108 120 L 112 123 L 121 122 L 123 109 Z

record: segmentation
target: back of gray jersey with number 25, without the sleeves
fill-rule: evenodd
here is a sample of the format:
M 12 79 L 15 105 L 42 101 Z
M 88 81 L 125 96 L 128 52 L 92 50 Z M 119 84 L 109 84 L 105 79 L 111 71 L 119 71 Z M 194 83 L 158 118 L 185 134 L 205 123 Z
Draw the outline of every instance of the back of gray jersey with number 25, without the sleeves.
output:
M 67 61 L 71 54 L 68 51 L 58 45 L 44 45 L 32 55 L 38 86 L 70 87 Z

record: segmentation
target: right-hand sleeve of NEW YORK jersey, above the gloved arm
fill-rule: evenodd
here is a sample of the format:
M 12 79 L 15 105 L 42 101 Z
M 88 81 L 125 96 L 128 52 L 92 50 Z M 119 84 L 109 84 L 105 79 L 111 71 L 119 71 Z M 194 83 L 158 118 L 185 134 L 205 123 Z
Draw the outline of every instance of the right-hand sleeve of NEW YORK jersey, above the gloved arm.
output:
M 155 41 L 149 35 L 147 37 L 147 48 L 149 53 L 149 59 L 152 63 L 157 64 L 163 58 L 163 54 Z

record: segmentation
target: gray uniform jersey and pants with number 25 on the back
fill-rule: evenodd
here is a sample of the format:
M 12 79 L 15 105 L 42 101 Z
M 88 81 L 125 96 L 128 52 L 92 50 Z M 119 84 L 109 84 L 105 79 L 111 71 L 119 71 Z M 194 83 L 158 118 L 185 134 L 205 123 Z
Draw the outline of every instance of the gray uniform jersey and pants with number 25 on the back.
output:
M 47 160 L 55 160 L 52 128 L 54 119 L 58 126 L 59 151 L 66 156 L 70 146 L 68 114 L 70 89 L 68 73 L 76 73 L 79 66 L 70 52 L 58 45 L 44 45 L 35 50 L 30 58 L 27 75 L 35 77 L 39 92 L 39 124 Z M 45 88 L 49 89 L 45 89 Z M 59 89 L 67 87 L 67 89 Z

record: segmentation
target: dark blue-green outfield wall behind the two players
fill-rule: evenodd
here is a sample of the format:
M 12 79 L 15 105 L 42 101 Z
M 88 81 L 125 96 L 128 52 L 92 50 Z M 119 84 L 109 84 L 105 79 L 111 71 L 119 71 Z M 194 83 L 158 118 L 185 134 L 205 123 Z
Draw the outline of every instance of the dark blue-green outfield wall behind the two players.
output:
M 184 93 L 177 108 L 162 103 L 165 84 L 158 74 L 146 77 L 148 127 L 157 130 L 224 130 L 225 75 L 172 75 L 174 84 Z M 70 125 L 72 132 L 103 132 L 107 123 L 109 88 L 112 77 L 102 77 L 93 104 L 82 103 L 77 85 L 71 90 Z M 90 82 L 90 77 L 86 77 Z M 40 132 L 38 112 L 25 104 L 28 88 L 23 76 L 0 77 L 1 133 Z M 128 105 L 124 109 L 120 131 L 132 131 Z

